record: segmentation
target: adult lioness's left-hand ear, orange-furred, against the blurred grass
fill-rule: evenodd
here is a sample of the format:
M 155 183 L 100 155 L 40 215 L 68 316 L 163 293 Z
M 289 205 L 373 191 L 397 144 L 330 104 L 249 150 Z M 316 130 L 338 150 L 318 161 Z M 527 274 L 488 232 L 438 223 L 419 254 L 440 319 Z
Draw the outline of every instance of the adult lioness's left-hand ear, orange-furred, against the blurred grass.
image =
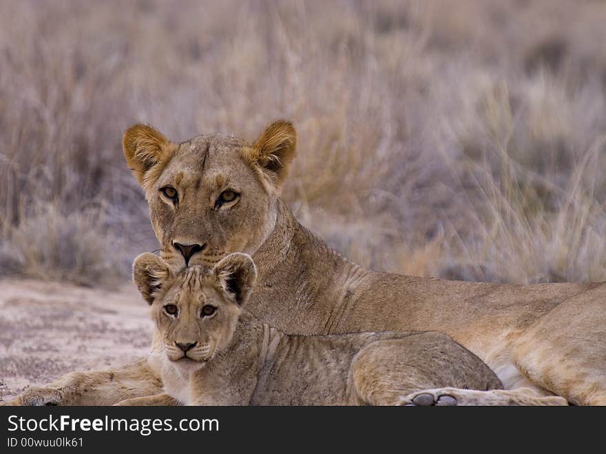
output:
M 142 124 L 133 125 L 125 131 L 122 147 L 128 166 L 143 187 L 151 179 L 146 176 L 147 172 L 161 161 L 167 162 L 176 149 L 176 145 L 163 134 Z

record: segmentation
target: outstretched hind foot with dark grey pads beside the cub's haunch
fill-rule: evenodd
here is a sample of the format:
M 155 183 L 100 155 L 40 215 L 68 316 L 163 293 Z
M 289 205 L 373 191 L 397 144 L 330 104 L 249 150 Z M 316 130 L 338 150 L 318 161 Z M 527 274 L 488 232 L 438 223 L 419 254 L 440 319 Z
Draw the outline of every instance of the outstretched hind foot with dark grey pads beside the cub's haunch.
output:
M 426 389 L 403 397 L 401 405 L 450 406 L 450 405 L 567 405 L 565 398 L 557 395 L 538 395 L 528 388 L 475 391 L 472 389 Z

